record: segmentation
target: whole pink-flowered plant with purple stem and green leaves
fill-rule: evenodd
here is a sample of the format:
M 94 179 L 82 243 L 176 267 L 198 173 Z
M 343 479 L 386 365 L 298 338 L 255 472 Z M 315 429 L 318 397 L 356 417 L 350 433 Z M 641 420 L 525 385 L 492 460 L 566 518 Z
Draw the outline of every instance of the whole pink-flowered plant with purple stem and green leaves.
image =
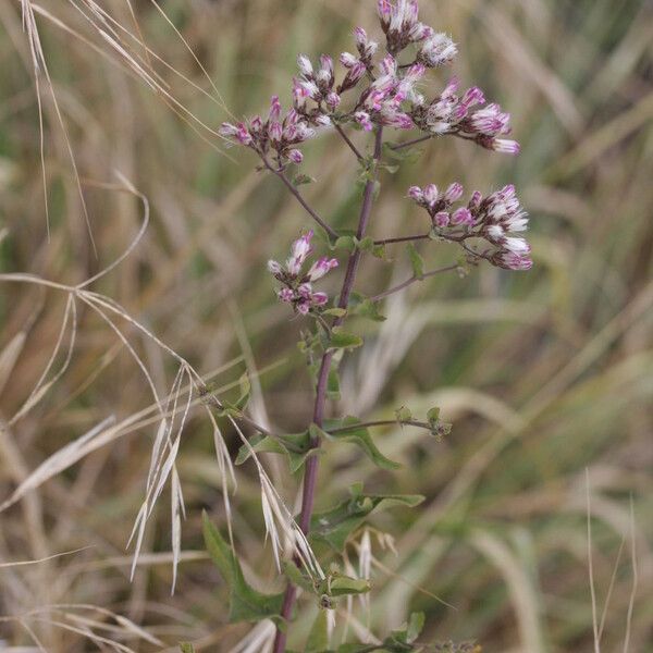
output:
M 379 0 L 378 14 L 384 34 L 382 46 L 362 27 L 357 27 L 354 30 L 356 53 L 343 52 L 338 58 L 340 70 L 329 56 L 322 54 L 319 65 L 313 65 L 308 57 L 300 54 L 297 60 L 299 74 L 293 79 L 292 107 L 286 112 L 274 96 L 266 118 L 256 115 L 237 124 L 223 123 L 221 127 L 222 136 L 252 150 L 261 161 L 260 169 L 274 174 L 286 186 L 316 223 L 315 229 L 323 236 L 323 247 L 346 257 L 342 287 L 333 301 L 325 292 L 316 291 L 313 284 L 336 268 L 338 259 L 326 254 L 310 262 L 316 233 L 312 230 L 300 234 L 292 244 L 285 263 L 276 260 L 268 263 L 278 282 L 279 299 L 309 321 L 310 329 L 304 333 L 300 347 L 307 356 L 315 383 L 312 421 L 304 433 L 276 435 L 248 420 L 259 435 L 245 445 L 241 456 L 245 459 L 259 451 L 282 453 L 287 455 L 292 471 L 303 471 L 303 502 L 296 525 L 289 516 L 272 514 L 267 503 L 263 506 L 264 512 L 268 510 L 267 525 L 287 517 L 298 527 L 288 530 L 291 542 L 285 551 L 293 562 L 282 564 L 278 557 L 279 569 L 286 577 L 285 592 L 264 595 L 249 588 L 230 546 L 208 520 L 205 523 L 208 547 L 225 579 L 233 584 L 232 618 L 272 619 L 276 625 L 275 653 L 286 650 L 299 591 L 315 594 L 322 608 L 306 650 L 325 651 L 330 648 L 328 633 L 338 597 L 366 594 L 370 589 L 369 574 L 357 578 L 333 568 L 324 572 L 310 546 L 320 542 L 340 553 L 347 540 L 360 533 L 372 510 L 397 504 L 411 506 L 420 501 L 415 496 L 367 495 L 361 488 L 355 486 L 343 504 L 315 514 L 320 460 L 317 454 L 322 445 L 345 440 L 358 445 L 381 468 L 393 469 L 396 464 L 378 449 L 370 435 L 371 428 L 396 421 L 439 436 L 448 432 L 438 408 L 429 410 L 421 420 L 402 408 L 393 422 L 366 423 L 353 417 L 333 419 L 326 416 L 326 401 L 337 392 L 337 371 L 343 355 L 362 345 L 358 335 L 343 329 L 345 321 L 355 315 L 383 319 L 379 311 L 383 298 L 427 276 L 447 271 L 466 272 L 482 261 L 507 270 L 528 270 L 532 266 L 528 243 L 515 235 L 527 229 L 527 214 L 513 185 L 489 195 L 473 192 L 466 202 L 461 201 L 465 192 L 458 182 L 444 189 L 435 184 L 423 188 L 411 186 L 407 197 L 428 214 L 428 229 L 419 234 L 377 241 L 367 235 L 380 173 L 389 167 L 384 161 L 386 155 L 395 161 L 401 160 L 406 148 L 447 135 L 496 152 L 519 152 L 519 145 L 506 138 L 510 133 L 509 114 L 497 103 L 486 103 L 480 88 L 475 86 L 460 93 L 460 84 L 453 77 L 442 90 L 428 95 L 429 69 L 451 63 L 457 47 L 446 34 L 436 33 L 419 21 L 417 0 L 396 0 L 394 3 Z M 373 134 L 370 152 L 356 145 L 352 130 L 362 132 L 364 136 Z M 406 132 L 411 136 L 389 143 L 385 140 L 389 131 Z M 308 178 L 306 175 L 293 177 L 289 174 L 294 167 L 304 162 L 300 147 L 326 132 L 337 134 L 360 164 L 362 197 L 358 221 L 352 232 L 338 232 L 308 204 L 299 190 L 300 184 Z M 445 268 L 427 271 L 416 247 L 419 241 L 454 243 L 460 248 L 460 257 Z M 384 259 L 386 248 L 398 243 L 408 244 L 412 276 L 374 297 L 355 293 L 357 273 L 365 256 Z M 230 415 L 242 417 L 242 409 L 243 405 L 239 405 Z M 281 546 L 278 538 L 273 538 L 273 545 L 276 553 Z M 362 559 L 369 555 L 369 535 L 364 530 L 359 546 L 361 568 L 365 567 Z M 414 616 L 403 630 L 389 636 L 381 648 L 346 644 L 340 650 L 422 650 L 417 643 L 420 627 L 420 617 Z

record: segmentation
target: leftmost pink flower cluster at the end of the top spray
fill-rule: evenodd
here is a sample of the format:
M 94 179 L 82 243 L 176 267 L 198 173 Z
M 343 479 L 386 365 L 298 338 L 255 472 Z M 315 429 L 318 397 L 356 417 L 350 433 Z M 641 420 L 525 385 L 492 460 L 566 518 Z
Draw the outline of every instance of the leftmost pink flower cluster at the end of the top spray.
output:
M 319 124 L 319 123 L 318 123 Z M 322 121 L 322 124 L 328 124 Z M 255 115 L 247 123 L 222 123 L 220 134 L 233 138 L 241 145 L 251 147 L 261 156 L 271 150 L 275 152 L 280 164 L 287 161 L 301 163 L 304 155 L 297 146 L 316 135 L 316 130 L 295 110 L 291 109 L 282 116 L 282 107 L 278 96 L 270 102 L 268 119 Z

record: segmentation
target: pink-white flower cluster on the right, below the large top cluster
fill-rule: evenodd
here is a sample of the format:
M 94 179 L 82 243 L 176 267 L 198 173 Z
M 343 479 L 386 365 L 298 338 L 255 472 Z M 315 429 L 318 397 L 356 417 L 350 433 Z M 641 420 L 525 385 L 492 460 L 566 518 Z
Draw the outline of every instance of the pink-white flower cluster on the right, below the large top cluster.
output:
M 444 192 L 434 184 L 424 188 L 411 186 L 408 197 L 428 211 L 438 236 L 456 243 L 483 238 L 494 249 L 477 255 L 494 266 L 508 270 L 530 270 L 532 267 L 530 245 L 525 238 L 510 235 L 528 227 L 528 214 L 519 204 L 515 186 L 505 186 L 485 198 L 477 190 L 466 206 L 455 210 L 452 205 L 463 197 L 463 186 L 458 183 Z

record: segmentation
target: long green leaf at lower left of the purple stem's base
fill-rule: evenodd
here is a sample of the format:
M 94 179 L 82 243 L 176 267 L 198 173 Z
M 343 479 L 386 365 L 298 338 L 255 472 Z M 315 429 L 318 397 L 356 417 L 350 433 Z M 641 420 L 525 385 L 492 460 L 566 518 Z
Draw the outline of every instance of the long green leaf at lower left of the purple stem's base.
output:
M 229 620 L 279 620 L 283 594 L 263 594 L 248 584 L 233 550 L 211 523 L 206 512 L 202 513 L 202 530 L 207 551 L 230 589 Z

